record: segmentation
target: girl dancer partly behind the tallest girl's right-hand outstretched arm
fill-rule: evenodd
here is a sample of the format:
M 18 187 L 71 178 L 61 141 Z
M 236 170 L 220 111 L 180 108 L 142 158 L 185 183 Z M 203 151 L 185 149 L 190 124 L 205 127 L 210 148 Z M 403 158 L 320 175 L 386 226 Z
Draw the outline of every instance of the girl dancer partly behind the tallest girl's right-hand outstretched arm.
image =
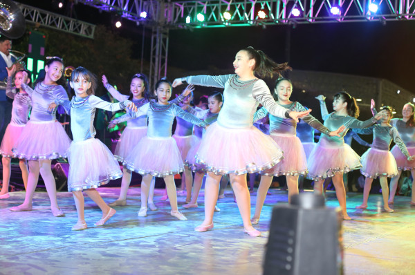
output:
M 292 102 L 290 100 L 291 93 L 293 92 L 293 84 L 291 80 L 285 78 L 279 78 L 275 82 L 275 99 L 277 103 L 284 108 L 288 108 L 291 111 L 306 111 L 306 108 L 299 104 L 299 102 Z M 255 113 L 254 122 L 268 115 L 266 108 L 262 107 Z M 316 120 L 312 115 L 306 115 L 302 118 L 304 122 L 312 126 L 314 129 L 325 133 L 329 136 L 340 137 L 340 133 L 344 131 L 344 126 L 340 126 L 339 129 L 331 131 L 327 129 L 323 124 Z M 261 215 L 261 209 L 264 205 L 266 193 L 273 182 L 273 176 L 278 177 L 285 175 L 288 187 L 288 202 L 291 200 L 291 196 L 298 193 L 298 176 L 305 175 L 307 173 L 307 160 L 306 154 L 302 147 L 299 138 L 295 135 L 295 129 L 297 122 L 292 118 L 282 118 L 270 115 L 270 137 L 277 142 L 284 152 L 284 160 L 278 162 L 275 167 L 260 171 L 261 182 L 257 191 L 257 203 L 255 205 L 255 214 L 251 219 L 252 224 L 256 225 L 259 222 L 259 216 Z

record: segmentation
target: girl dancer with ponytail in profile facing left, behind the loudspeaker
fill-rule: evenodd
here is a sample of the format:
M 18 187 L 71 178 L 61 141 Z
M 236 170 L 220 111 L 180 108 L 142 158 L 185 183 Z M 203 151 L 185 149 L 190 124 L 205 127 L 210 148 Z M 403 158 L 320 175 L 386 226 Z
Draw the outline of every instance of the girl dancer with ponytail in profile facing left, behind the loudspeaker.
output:
M 320 97 L 322 98 L 322 97 Z M 322 133 L 320 140 L 307 160 L 308 178 L 314 180 L 314 192 L 322 194 L 324 179 L 333 177 L 335 194 L 342 208 L 344 220 L 351 220 L 346 209 L 346 191 L 344 190 L 343 173 L 359 169 L 360 157 L 348 144 L 344 144 L 344 135 L 351 128 L 367 128 L 375 124 L 385 111 L 382 111 L 365 122 L 357 120 L 359 116 L 356 99 L 346 92 L 340 92 L 333 97 L 334 112 L 323 117 L 324 126 L 330 130 L 344 125 L 346 131 L 340 137 L 329 137 Z M 326 109 L 324 100 L 320 100 L 320 108 Z M 329 113 L 327 111 L 327 113 Z

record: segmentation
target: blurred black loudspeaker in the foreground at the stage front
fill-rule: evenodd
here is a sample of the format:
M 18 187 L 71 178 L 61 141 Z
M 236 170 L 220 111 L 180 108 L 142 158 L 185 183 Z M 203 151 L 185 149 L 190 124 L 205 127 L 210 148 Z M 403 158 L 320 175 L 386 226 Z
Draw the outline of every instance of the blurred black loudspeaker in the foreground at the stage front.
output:
M 301 193 L 273 209 L 264 275 L 343 274 L 342 216 L 324 197 Z

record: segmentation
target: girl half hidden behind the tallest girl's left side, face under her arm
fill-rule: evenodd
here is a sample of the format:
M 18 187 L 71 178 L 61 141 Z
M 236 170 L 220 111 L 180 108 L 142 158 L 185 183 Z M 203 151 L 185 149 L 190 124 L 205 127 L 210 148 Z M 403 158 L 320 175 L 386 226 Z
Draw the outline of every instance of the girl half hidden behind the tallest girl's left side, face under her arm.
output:
M 194 113 L 196 117 L 201 118 L 204 122 L 208 124 L 212 124 L 216 122 L 218 119 L 219 111 L 221 111 L 223 104 L 223 96 L 219 92 L 212 93 L 208 97 L 208 110 L 202 111 L 190 111 L 190 113 Z M 203 136 L 203 135 L 202 135 Z M 202 187 L 203 176 L 205 176 L 205 165 L 196 163 L 196 153 L 199 150 L 199 146 L 201 146 L 201 141 L 199 141 L 196 145 L 190 149 L 189 153 L 187 153 L 187 158 L 185 160 L 186 164 L 194 171 L 194 184 L 193 184 L 193 191 L 192 191 L 192 200 L 186 205 L 183 205 L 185 208 L 196 208 L 197 205 L 197 198 L 199 196 L 199 191 Z M 228 184 L 228 181 L 225 182 Z M 187 187 L 186 187 L 187 188 Z M 190 189 L 192 189 L 190 187 Z M 189 189 L 187 189 L 189 190 Z

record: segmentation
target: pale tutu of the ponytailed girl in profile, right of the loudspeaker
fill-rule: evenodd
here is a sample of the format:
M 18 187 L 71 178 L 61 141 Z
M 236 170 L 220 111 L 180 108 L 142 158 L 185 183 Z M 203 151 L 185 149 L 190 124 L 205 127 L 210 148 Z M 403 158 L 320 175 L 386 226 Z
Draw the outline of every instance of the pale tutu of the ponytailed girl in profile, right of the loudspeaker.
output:
M 349 144 L 324 146 L 320 142 L 313 149 L 307 160 L 308 176 L 311 180 L 324 180 L 336 173 L 349 173 L 360 169 L 359 155 Z

